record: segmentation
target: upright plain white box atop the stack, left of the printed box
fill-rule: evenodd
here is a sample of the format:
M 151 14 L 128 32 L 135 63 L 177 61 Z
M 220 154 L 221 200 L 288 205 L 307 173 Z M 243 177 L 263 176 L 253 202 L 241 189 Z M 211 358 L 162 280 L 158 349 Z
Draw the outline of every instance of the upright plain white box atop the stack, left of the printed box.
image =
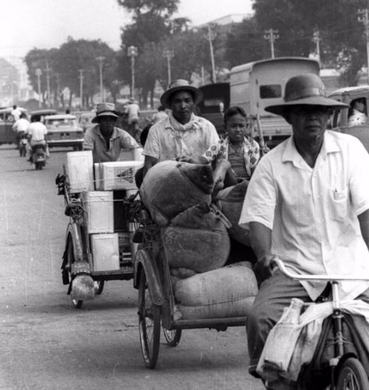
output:
M 71 193 L 81 193 L 94 189 L 91 150 L 67 152 L 66 168 Z

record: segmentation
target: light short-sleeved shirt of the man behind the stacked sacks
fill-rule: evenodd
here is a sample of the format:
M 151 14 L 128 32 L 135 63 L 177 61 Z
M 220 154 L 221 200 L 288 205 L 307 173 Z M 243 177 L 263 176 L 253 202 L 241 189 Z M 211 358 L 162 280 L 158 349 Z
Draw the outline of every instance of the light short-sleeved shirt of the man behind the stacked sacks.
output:
M 187 130 L 174 130 L 170 117 L 150 127 L 144 144 L 145 156 L 152 156 L 159 161 L 188 157 L 197 159 L 203 156 L 212 144 L 217 144 L 219 136 L 214 125 L 203 117 L 192 115 L 193 126 Z M 187 126 L 188 125 L 188 126 Z

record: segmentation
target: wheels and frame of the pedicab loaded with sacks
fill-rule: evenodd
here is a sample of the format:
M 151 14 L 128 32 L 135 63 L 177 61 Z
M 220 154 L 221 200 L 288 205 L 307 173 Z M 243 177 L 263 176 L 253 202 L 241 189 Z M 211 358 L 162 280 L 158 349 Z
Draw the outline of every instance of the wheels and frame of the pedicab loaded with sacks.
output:
M 168 345 L 175 347 L 182 329 L 212 328 L 226 331 L 229 326 L 245 326 L 246 316 L 212 319 L 176 319 L 175 297 L 169 263 L 164 254 L 160 228 L 142 209 L 140 242 L 135 256 L 134 287 L 138 289 L 138 317 L 142 357 L 147 368 L 157 365 L 161 326 Z M 134 241 L 136 235 L 134 237 Z

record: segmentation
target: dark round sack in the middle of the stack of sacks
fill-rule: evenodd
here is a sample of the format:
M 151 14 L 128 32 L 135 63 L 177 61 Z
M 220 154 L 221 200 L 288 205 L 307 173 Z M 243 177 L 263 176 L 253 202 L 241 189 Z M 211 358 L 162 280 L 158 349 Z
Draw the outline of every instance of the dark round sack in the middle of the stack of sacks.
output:
M 169 226 L 161 228 L 169 268 L 204 273 L 225 265 L 230 250 L 227 226 L 229 222 L 220 210 L 205 203 L 178 214 Z

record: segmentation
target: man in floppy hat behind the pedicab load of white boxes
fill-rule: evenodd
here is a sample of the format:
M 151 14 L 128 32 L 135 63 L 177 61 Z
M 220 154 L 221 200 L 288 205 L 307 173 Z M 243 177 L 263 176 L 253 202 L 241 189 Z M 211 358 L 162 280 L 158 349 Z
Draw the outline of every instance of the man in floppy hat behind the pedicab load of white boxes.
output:
M 121 149 L 135 149 L 138 146 L 133 137 L 125 130 L 115 127 L 118 114 L 113 103 L 100 103 L 93 117 L 95 126 L 84 134 L 84 149 L 92 150 L 93 162 L 117 161 Z

